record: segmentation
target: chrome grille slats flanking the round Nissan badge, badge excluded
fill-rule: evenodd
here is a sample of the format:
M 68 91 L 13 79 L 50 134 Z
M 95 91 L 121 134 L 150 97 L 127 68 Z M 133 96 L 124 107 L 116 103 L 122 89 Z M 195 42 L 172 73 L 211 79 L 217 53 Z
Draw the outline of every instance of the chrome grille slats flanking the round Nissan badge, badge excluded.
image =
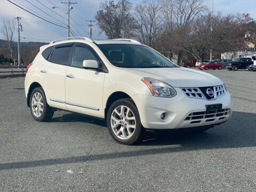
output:
M 213 86 L 214 97 L 212 99 L 207 99 L 204 93 L 199 89 L 199 87 L 181 87 L 180 89 L 189 98 L 205 99 L 209 101 L 221 98 L 223 95 L 226 94 L 224 85 Z

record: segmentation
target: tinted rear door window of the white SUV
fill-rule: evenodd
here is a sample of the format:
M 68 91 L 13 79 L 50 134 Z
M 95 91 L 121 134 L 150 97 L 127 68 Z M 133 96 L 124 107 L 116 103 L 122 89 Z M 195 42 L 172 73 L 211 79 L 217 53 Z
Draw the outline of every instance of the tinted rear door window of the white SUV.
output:
M 55 49 L 52 52 L 50 61 L 62 65 L 68 65 L 68 58 L 71 49 L 72 46 L 55 47 Z

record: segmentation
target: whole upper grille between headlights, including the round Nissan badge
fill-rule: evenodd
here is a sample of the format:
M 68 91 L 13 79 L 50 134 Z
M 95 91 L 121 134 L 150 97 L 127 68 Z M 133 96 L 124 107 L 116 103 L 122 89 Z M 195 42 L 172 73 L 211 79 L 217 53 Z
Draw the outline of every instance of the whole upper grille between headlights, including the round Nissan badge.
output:
M 226 94 L 224 85 L 209 87 L 181 87 L 181 90 L 189 98 L 205 100 L 215 100 Z

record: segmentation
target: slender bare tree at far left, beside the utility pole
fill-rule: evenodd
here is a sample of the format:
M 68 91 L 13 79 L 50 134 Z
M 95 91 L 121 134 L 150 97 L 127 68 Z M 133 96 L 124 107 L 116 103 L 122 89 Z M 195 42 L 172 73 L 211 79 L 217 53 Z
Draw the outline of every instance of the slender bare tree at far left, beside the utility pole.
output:
M 4 19 L 3 20 L 3 26 L 2 26 L 2 34 L 5 38 L 5 40 L 7 41 L 8 44 L 8 49 L 11 55 L 11 59 L 14 60 L 14 65 L 15 65 L 15 58 L 13 55 L 13 34 L 14 32 L 17 30 L 15 28 L 15 20 L 12 19 Z

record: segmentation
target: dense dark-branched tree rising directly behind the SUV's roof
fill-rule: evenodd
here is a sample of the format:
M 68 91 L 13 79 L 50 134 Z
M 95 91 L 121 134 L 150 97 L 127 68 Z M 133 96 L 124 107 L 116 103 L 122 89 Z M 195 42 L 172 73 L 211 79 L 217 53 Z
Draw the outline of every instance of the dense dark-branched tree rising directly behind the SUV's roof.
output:
M 108 38 L 131 38 L 135 21 L 131 14 L 132 3 L 128 0 L 119 0 L 100 3 L 100 8 L 95 16 L 100 33 L 105 33 Z

